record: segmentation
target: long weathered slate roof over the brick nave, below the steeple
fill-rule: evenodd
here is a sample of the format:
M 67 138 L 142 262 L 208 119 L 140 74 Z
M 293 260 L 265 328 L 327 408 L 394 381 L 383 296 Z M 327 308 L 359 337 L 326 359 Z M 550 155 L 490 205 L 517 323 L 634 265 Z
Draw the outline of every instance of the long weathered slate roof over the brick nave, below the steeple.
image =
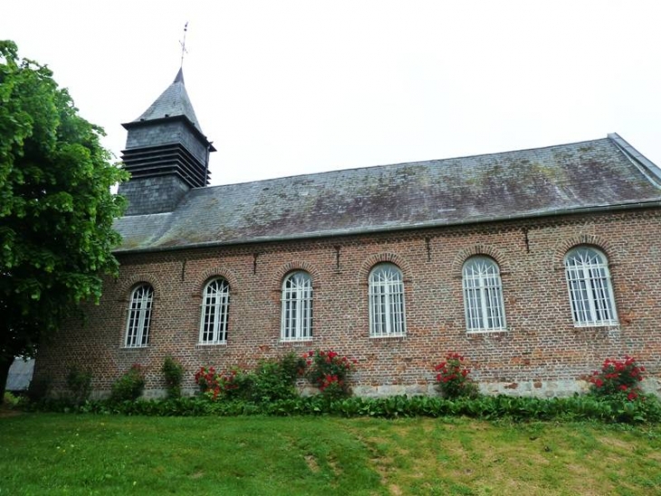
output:
M 661 170 L 595 141 L 190 190 L 173 212 L 116 221 L 152 251 L 661 206 Z

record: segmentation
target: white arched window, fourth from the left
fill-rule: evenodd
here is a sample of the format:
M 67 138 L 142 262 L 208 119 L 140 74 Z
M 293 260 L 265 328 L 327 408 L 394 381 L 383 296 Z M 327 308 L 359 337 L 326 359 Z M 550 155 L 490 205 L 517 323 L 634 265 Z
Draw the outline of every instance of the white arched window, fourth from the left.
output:
M 402 272 L 378 264 L 369 273 L 369 336 L 404 336 L 407 332 Z

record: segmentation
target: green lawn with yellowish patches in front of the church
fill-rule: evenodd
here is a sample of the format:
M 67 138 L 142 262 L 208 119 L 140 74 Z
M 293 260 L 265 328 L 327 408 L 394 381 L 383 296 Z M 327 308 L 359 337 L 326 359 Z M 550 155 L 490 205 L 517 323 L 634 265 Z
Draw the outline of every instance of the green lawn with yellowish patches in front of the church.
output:
M 513 493 L 661 493 L 661 426 L 0 416 L 0 495 Z

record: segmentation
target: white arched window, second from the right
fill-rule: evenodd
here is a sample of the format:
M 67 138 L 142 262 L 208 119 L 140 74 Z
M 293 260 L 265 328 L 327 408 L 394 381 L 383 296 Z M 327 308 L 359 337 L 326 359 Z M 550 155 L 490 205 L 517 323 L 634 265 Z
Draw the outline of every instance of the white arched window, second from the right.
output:
M 468 258 L 463 281 L 468 332 L 505 330 L 503 285 L 495 261 L 488 257 Z

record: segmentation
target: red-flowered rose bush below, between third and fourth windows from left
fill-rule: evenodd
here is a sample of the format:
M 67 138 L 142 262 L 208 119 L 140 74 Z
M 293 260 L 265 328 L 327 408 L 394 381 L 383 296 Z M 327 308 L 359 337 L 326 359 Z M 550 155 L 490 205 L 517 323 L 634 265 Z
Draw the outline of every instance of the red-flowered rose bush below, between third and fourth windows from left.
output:
M 308 380 L 317 386 L 321 394 L 330 399 L 350 396 L 347 379 L 356 364 L 346 356 L 340 356 L 332 350 L 310 351 L 304 358 L 310 366 L 307 372 Z

